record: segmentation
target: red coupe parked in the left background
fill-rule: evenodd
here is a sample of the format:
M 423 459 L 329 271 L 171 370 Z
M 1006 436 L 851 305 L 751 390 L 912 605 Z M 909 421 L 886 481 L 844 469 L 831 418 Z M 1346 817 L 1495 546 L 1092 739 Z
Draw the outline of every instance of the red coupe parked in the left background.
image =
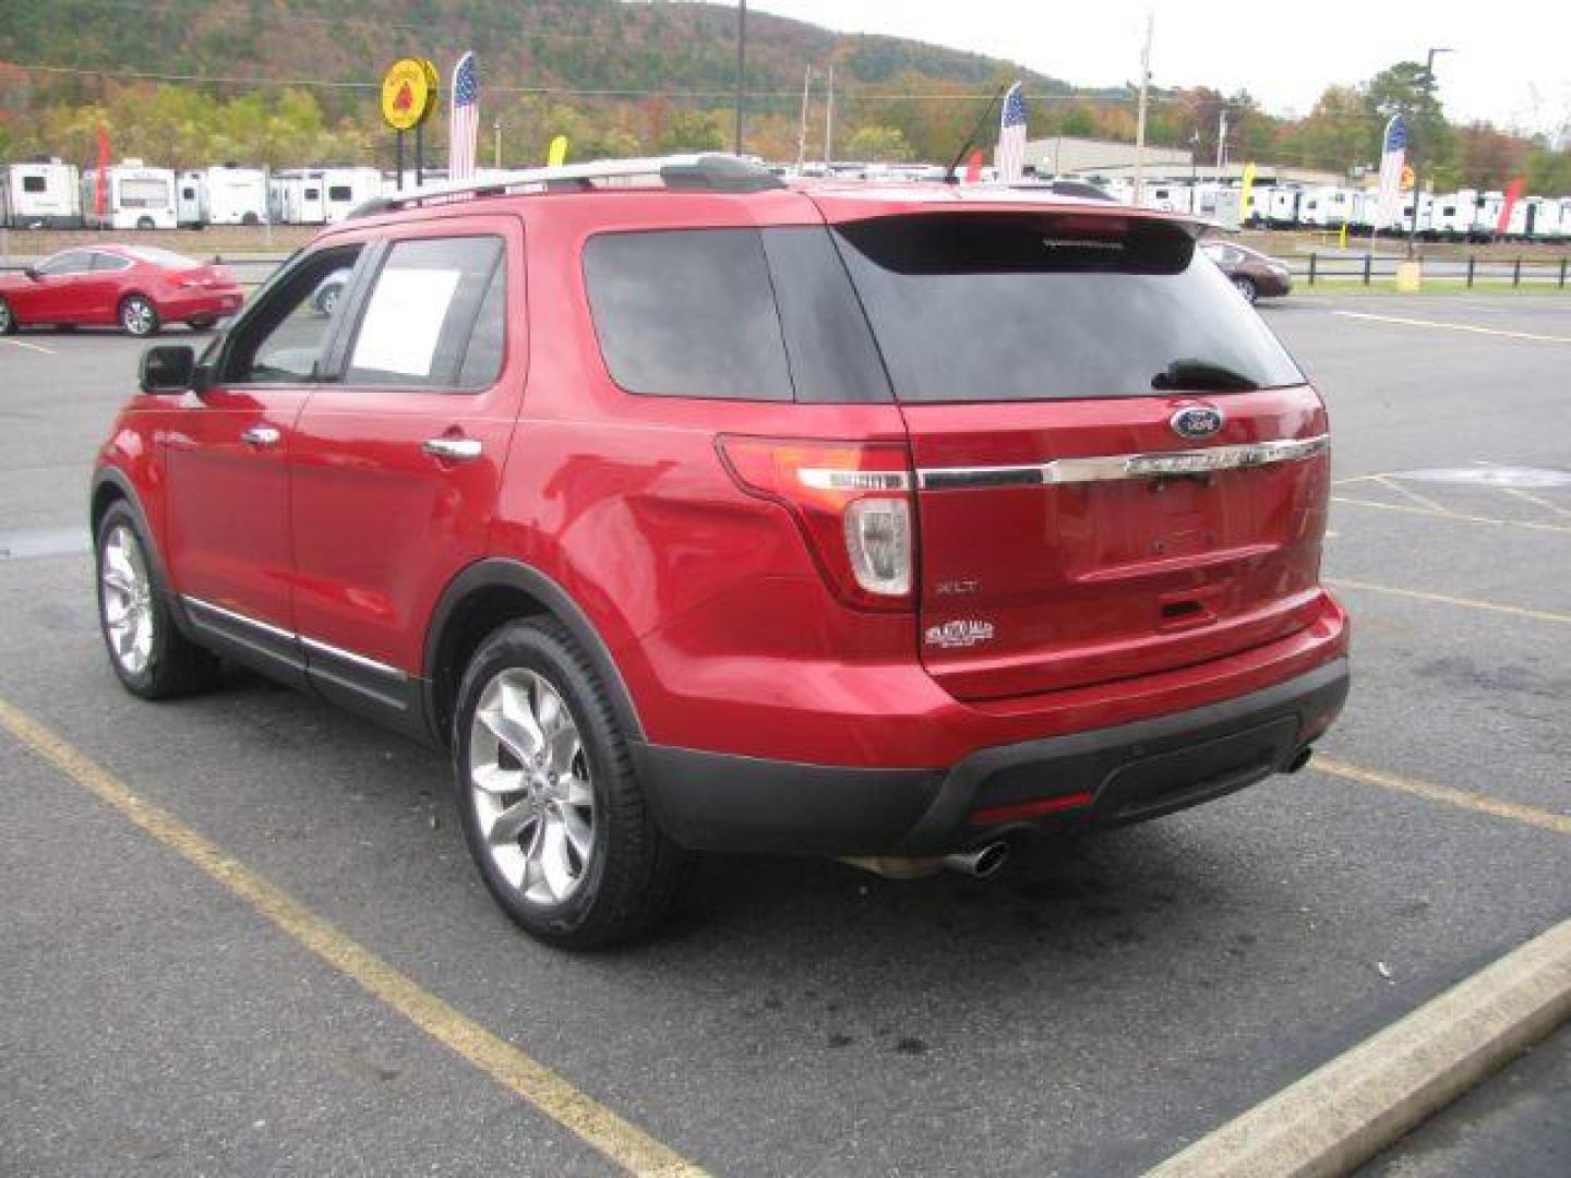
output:
M 119 325 L 151 336 L 168 322 L 212 327 L 244 300 L 222 265 L 145 245 L 82 245 L 20 273 L 0 273 L 0 335 L 19 327 Z

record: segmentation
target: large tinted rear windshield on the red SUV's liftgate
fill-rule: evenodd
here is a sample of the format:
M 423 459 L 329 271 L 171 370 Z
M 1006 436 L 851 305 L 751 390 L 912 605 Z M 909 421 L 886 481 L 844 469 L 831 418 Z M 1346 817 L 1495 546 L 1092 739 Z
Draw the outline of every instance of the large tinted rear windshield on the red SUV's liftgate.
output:
M 1117 217 L 888 217 L 836 229 L 895 396 L 1152 396 L 1174 361 L 1302 382 L 1178 226 Z

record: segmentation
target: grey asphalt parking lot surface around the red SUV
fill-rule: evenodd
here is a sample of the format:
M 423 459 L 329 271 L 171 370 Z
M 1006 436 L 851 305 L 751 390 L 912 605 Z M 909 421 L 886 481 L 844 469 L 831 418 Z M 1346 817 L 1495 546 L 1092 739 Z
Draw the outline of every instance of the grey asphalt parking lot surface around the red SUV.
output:
M 247 675 L 119 690 L 85 493 L 140 346 L 0 341 L 0 701 L 107 771 L 0 732 L 0 1173 L 600 1173 L 564 1121 L 605 1110 L 713 1173 L 1137 1173 L 1571 916 L 1571 298 L 1263 314 L 1335 437 L 1316 765 L 990 883 L 713 859 L 588 957 L 495 909 L 437 755 Z M 1370 1170 L 1566 1173 L 1568 1052 Z

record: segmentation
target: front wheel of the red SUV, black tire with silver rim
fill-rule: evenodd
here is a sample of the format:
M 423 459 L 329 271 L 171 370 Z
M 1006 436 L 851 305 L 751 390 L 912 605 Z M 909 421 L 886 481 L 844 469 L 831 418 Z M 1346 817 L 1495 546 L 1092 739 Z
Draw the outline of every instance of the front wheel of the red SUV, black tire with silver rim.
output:
M 126 690 L 141 699 L 174 699 L 212 686 L 218 658 L 174 624 L 141 520 L 124 501 L 104 512 L 93 547 L 99 630 Z

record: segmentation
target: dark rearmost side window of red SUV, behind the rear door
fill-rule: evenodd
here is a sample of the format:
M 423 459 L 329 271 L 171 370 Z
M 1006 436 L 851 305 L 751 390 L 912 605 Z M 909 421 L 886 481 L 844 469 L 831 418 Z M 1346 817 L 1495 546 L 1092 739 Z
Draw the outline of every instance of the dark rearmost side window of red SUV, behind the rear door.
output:
M 600 352 L 628 393 L 792 399 L 757 229 L 600 234 L 583 261 Z

